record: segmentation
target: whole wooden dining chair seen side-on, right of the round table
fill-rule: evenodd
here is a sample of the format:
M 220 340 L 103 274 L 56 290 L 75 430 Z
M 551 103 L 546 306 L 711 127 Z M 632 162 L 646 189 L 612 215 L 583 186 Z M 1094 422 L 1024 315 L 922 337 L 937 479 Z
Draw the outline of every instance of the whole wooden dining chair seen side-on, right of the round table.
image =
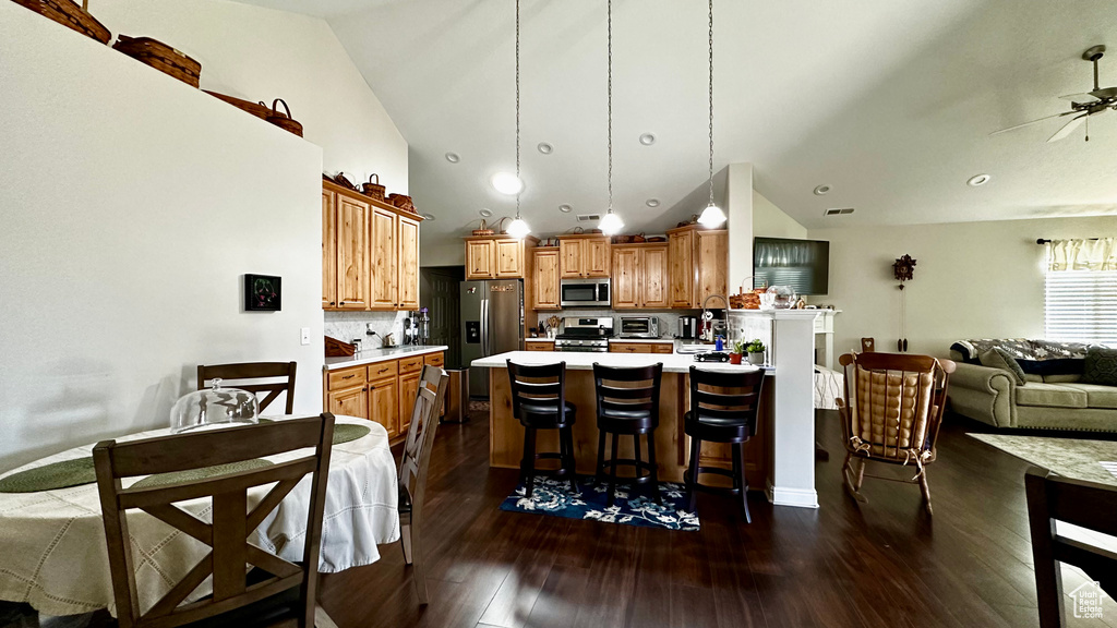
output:
M 446 400 L 449 381 L 450 377 L 442 369 L 430 364 L 423 367 L 400 460 L 400 544 L 403 546 L 403 562 L 411 565 L 420 605 L 429 601 L 421 536 L 427 469 L 430 468 L 430 450 L 438 430 L 438 410 Z

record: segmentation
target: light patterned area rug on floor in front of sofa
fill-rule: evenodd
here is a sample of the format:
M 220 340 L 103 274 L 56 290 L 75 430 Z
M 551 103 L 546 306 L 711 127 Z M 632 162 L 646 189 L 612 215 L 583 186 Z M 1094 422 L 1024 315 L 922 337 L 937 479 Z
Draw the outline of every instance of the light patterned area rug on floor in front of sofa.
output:
M 1117 486 L 1117 477 L 1102 465 L 1117 462 L 1117 443 L 1000 434 L 970 436 L 1063 477 Z

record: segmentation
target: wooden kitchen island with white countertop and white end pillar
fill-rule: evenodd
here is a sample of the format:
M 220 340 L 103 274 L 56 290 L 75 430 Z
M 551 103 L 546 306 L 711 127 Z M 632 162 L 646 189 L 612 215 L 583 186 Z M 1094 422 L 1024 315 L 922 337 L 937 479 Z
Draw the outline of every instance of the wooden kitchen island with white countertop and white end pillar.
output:
M 763 489 L 776 505 L 818 507 L 814 491 L 813 321 L 818 311 L 734 311 L 734 314 L 767 318 L 772 323 L 771 356 L 776 368 L 765 367 L 767 378 L 761 396 L 756 436 L 745 447 L 745 476 L 750 488 Z M 746 371 L 748 364 L 696 362 L 679 353 L 577 353 L 510 351 L 474 360 L 472 367 L 490 369 L 489 466 L 519 468 L 524 428 L 512 415 L 512 390 L 507 361 L 517 364 L 566 362 L 566 400 L 577 406 L 574 424 L 574 459 L 580 474 L 594 473 L 598 455 L 596 400 L 593 363 L 609 367 L 646 367 L 661 362 L 659 427 L 656 453 L 659 477 L 681 482 L 687 468 L 689 438 L 682 416 L 689 409 L 690 367 L 716 371 Z M 555 430 L 541 430 L 536 449 L 557 451 Z M 632 441 L 620 439 L 621 458 L 633 455 Z M 729 468 L 729 446 L 703 443 L 701 465 Z M 704 476 L 714 483 L 717 476 Z

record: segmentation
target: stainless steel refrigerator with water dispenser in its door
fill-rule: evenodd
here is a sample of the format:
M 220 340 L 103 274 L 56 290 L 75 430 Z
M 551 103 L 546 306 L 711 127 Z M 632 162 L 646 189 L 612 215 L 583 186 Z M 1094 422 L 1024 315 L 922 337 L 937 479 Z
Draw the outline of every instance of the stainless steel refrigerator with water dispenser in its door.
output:
M 521 279 L 461 282 L 461 361 L 524 346 L 524 283 Z M 469 369 L 469 394 L 488 397 L 488 369 Z

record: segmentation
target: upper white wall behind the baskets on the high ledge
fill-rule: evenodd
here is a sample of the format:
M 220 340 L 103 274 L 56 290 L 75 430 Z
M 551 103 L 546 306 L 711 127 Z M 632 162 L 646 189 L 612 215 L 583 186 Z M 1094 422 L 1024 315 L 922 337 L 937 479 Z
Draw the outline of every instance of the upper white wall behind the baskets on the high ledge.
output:
M 221 0 L 95 0 L 113 34 L 154 37 L 202 64 L 201 86 L 249 101 L 284 98 L 323 170 L 373 172 L 407 193 L 408 143 L 321 19 Z M 247 115 L 247 114 L 245 114 Z

